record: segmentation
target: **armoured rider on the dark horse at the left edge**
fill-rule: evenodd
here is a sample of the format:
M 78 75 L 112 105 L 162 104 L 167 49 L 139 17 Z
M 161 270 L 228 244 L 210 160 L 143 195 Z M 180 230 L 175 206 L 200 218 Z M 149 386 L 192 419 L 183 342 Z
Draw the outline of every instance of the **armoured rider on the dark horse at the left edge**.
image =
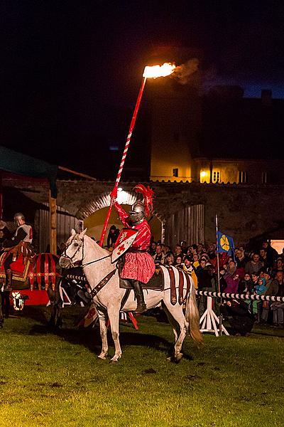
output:
M 6 239 L 3 243 L 3 247 L 6 250 L 16 248 L 19 243 L 23 242 L 23 248 L 25 250 L 25 254 L 31 252 L 31 243 L 33 241 L 33 228 L 26 224 L 25 216 L 18 212 L 13 217 L 15 224 L 17 226 L 16 232 L 11 239 Z M 23 251 L 23 248 L 21 249 Z M 12 270 L 11 263 L 15 260 L 16 254 L 11 251 L 4 261 L 4 269 L 6 274 L 6 288 L 11 288 L 12 283 Z

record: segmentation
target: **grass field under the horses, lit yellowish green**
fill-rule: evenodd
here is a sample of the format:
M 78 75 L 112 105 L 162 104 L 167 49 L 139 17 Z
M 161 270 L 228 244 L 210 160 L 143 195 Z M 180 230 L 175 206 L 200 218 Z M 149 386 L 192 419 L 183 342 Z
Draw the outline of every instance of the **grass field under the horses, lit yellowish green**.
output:
M 56 334 L 47 332 L 45 307 L 5 321 L 0 426 L 283 425 L 283 331 L 207 334 L 202 349 L 186 339 L 185 358 L 173 364 L 170 326 L 141 316 L 138 331 L 121 324 L 124 353 L 111 365 L 97 359 L 97 327 L 73 326 L 80 310 L 65 308 Z

